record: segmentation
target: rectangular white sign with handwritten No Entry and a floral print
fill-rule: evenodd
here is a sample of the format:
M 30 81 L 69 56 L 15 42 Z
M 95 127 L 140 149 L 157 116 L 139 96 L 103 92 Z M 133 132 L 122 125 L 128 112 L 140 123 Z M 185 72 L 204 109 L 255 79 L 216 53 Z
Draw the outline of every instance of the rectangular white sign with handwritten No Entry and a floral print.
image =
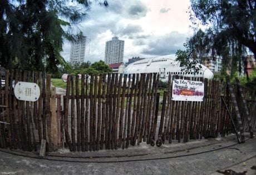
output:
M 173 80 L 174 101 L 203 101 L 204 83 L 201 81 Z

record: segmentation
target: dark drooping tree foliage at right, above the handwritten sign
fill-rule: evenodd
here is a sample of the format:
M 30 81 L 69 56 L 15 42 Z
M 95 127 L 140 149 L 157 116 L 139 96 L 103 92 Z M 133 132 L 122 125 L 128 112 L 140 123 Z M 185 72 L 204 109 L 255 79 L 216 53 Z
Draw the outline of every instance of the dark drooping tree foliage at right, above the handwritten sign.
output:
M 193 26 L 204 25 L 187 44 L 192 55 L 221 56 L 223 73 L 233 75 L 246 65 L 248 50 L 256 54 L 256 1 L 191 0 L 190 20 Z

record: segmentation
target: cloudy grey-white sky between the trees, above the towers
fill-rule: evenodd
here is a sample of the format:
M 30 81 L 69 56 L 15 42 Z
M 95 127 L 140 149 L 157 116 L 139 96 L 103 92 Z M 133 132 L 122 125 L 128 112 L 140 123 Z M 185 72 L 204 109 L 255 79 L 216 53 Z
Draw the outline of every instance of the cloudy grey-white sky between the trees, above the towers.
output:
M 109 0 L 109 7 L 93 4 L 78 28 L 88 37 L 85 61 L 104 60 L 106 41 L 125 40 L 124 62 L 132 56 L 149 58 L 175 54 L 184 49 L 189 28 L 189 0 Z M 78 32 L 75 29 L 74 32 Z M 62 56 L 69 61 L 71 44 L 65 42 Z

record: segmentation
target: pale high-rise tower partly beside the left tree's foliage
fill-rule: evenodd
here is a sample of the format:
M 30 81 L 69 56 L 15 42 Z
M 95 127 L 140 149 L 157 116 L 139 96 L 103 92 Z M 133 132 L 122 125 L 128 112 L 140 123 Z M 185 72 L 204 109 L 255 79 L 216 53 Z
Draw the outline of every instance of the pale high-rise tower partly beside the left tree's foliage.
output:
M 85 61 L 86 37 L 77 36 L 71 44 L 70 64 L 81 64 Z

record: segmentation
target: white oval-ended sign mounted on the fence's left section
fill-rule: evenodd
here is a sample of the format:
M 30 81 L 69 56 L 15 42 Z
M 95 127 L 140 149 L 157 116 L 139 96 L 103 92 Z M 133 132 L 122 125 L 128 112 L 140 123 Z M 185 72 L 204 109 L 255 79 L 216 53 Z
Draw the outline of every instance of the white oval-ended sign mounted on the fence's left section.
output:
M 14 95 L 18 100 L 37 101 L 40 97 L 40 88 L 36 83 L 19 81 L 14 86 Z

